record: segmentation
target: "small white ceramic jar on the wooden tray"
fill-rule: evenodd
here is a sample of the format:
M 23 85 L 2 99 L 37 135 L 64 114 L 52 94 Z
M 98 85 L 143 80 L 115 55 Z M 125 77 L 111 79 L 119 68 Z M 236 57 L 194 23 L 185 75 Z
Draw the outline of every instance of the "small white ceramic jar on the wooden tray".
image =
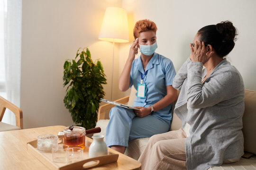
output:
M 103 135 L 92 136 L 93 142 L 89 147 L 89 158 L 108 154 L 108 146 L 105 144 L 103 138 Z

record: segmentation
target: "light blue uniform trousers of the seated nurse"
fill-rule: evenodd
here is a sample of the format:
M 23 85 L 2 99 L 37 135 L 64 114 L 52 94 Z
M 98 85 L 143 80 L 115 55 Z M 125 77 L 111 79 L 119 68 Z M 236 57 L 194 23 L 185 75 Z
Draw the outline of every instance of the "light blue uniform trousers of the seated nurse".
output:
M 132 109 L 115 106 L 110 110 L 110 121 L 106 128 L 107 146 L 128 147 L 128 141 L 168 132 L 171 121 L 156 115 L 137 117 Z

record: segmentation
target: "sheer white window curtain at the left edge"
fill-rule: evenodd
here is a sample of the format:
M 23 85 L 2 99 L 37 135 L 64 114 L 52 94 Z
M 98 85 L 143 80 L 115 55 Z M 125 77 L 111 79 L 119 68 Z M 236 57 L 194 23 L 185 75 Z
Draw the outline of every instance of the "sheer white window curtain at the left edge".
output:
M 7 8 L 4 17 L 5 90 L 7 100 L 20 107 L 21 9 L 22 0 L 0 0 Z M 3 1 L 3 2 L 2 2 Z M 7 2 L 7 3 L 6 3 Z M 7 6 L 7 7 L 6 7 Z M 6 111 L 2 122 L 16 125 L 15 115 Z

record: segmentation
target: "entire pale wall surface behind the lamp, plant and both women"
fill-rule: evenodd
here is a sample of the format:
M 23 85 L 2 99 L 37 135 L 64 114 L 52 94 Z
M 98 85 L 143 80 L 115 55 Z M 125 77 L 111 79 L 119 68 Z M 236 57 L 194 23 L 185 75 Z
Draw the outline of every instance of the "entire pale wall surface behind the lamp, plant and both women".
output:
M 255 0 L 23 0 L 20 107 L 25 128 L 73 124 L 63 103 L 62 76 L 65 59 L 73 59 L 79 47 L 88 46 L 92 59 L 101 59 L 108 79 L 105 98 L 110 99 L 113 46 L 98 40 L 110 6 L 128 10 L 131 38 L 115 45 L 114 100 L 129 93 L 118 90 L 118 77 L 128 57 L 134 23 L 145 18 L 158 27 L 156 52 L 172 59 L 176 71 L 189 57 L 189 43 L 202 26 L 232 21 L 239 35 L 229 59 L 245 87 L 256 90 Z

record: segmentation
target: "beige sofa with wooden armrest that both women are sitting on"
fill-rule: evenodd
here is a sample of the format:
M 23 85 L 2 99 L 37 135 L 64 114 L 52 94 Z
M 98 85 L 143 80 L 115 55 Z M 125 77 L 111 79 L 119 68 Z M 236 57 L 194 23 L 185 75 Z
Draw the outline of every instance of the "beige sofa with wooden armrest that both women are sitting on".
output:
M 119 99 L 115 102 L 133 105 L 136 97 L 136 90 L 132 87 L 130 95 Z M 101 127 L 101 135 L 105 136 L 106 127 L 109 122 L 110 109 L 114 107 L 112 104 L 105 104 L 99 108 L 98 121 L 96 127 Z M 173 103 L 173 109 L 175 102 Z M 170 130 L 178 130 L 181 128 L 182 122 L 173 111 L 173 120 Z M 230 164 L 223 164 L 219 167 L 211 167 L 208 170 L 256 170 L 256 91 L 245 90 L 245 111 L 243 115 L 243 134 L 244 134 L 244 151 L 240 161 Z M 97 134 L 98 135 L 98 134 Z M 149 137 L 138 138 L 129 141 L 125 154 L 133 159 L 138 160 L 143 152 Z

